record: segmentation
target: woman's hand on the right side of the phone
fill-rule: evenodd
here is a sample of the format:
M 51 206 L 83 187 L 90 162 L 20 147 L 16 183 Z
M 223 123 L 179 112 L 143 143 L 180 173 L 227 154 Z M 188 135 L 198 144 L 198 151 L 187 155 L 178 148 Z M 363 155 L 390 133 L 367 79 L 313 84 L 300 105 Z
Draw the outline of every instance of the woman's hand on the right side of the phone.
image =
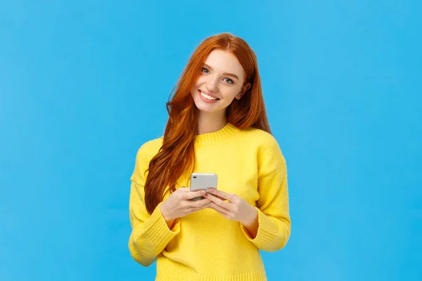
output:
M 240 221 L 247 228 L 257 223 L 257 210 L 242 197 L 214 188 L 210 188 L 208 192 L 204 197 L 211 200 L 210 209 L 231 221 Z

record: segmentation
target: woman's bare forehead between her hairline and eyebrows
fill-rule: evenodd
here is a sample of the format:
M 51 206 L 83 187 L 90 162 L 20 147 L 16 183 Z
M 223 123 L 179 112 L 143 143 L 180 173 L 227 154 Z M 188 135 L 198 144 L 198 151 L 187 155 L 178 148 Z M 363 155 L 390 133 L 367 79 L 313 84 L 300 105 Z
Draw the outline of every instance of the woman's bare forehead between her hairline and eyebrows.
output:
M 233 53 L 225 50 L 213 50 L 205 60 L 216 72 L 229 72 L 243 77 L 243 67 Z

